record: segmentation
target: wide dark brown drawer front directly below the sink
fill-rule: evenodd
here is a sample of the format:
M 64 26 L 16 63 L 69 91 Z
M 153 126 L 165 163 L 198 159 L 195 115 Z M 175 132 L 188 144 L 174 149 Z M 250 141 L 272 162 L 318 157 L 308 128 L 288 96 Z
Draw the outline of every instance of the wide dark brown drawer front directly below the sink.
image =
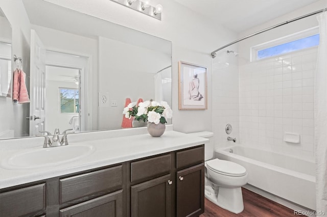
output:
M 72 176 L 59 181 L 60 204 L 107 189 L 123 187 L 123 166 Z

